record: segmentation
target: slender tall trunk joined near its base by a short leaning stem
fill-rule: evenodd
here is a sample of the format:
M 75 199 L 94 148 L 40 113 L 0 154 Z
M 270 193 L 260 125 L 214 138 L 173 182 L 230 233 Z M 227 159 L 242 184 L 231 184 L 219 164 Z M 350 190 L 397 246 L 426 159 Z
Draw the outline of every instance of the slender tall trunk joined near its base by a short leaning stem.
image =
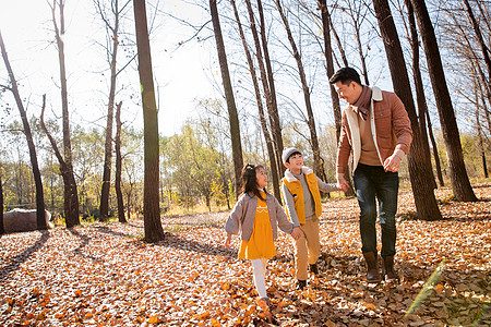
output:
M 60 28 L 58 28 L 56 20 L 56 7 L 60 10 Z M 79 217 L 79 192 L 76 190 L 75 175 L 73 174 L 72 165 L 72 144 L 70 138 L 70 119 L 69 119 L 69 108 L 68 108 L 68 87 L 67 87 L 67 69 L 64 61 L 64 1 L 53 0 L 51 7 L 52 23 L 55 27 L 55 36 L 58 46 L 58 61 L 60 65 L 60 85 L 61 85 L 61 110 L 62 110 L 62 125 L 63 125 L 63 152 L 64 152 L 64 172 L 63 184 L 64 184 L 64 215 L 67 227 L 71 228 L 80 223 Z M 60 166 L 61 161 L 60 161 Z

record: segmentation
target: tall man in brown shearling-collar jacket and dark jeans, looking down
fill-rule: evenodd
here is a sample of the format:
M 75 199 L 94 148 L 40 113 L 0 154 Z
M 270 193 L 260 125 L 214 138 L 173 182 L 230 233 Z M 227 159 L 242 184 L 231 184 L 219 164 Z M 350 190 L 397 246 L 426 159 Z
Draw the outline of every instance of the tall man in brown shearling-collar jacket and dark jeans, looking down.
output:
M 348 102 L 343 110 L 337 150 L 337 182 L 347 190 L 345 180 L 349 156 L 352 179 L 360 206 L 361 252 L 367 263 L 367 281 L 379 282 L 376 204 L 382 230 L 381 256 L 387 281 L 396 279 L 396 226 L 398 174 L 400 160 L 412 141 L 410 121 L 400 99 L 391 92 L 361 84 L 352 68 L 338 70 L 331 78 L 340 99 Z

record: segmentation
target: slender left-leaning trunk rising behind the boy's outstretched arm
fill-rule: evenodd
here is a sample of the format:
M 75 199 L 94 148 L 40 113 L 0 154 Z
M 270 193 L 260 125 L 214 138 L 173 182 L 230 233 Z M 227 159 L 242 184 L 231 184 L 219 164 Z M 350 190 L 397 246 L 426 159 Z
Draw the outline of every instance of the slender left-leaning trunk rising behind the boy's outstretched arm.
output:
M 282 21 L 285 25 L 285 29 L 286 29 L 288 40 L 291 46 L 291 51 L 292 51 L 294 58 L 297 61 L 298 73 L 300 75 L 300 82 L 302 83 L 303 100 L 306 101 L 306 109 L 307 109 L 307 114 L 309 118 L 307 123 L 309 125 L 310 143 L 312 146 L 313 159 L 314 159 L 313 170 L 314 170 L 314 173 L 325 182 L 325 181 L 327 181 L 327 177 L 324 171 L 324 159 L 321 158 L 321 149 L 319 147 L 318 132 L 315 131 L 315 120 L 313 117 L 312 102 L 310 99 L 310 89 L 309 89 L 309 85 L 307 84 L 307 77 L 306 77 L 306 72 L 303 70 L 303 63 L 302 63 L 302 60 L 300 57 L 300 51 L 298 50 L 297 45 L 294 40 L 294 36 L 291 35 L 290 25 L 288 24 L 288 21 L 285 16 L 285 13 L 283 11 L 282 4 L 279 3 L 279 0 L 276 0 L 275 3 L 276 3 L 276 8 L 278 9 L 279 15 L 282 16 Z

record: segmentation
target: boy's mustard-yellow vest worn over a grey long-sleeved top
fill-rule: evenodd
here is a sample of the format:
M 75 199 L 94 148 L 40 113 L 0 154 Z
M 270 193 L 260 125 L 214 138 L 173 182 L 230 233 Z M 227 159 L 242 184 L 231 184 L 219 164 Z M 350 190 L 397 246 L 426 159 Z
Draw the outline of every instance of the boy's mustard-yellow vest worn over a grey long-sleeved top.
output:
M 309 185 L 310 193 L 315 203 L 315 216 L 320 217 L 322 214 L 321 193 L 319 192 L 318 178 L 313 172 L 306 174 L 306 181 Z M 297 211 L 298 221 L 306 223 L 306 204 L 303 201 L 303 189 L 299 180 L 289 182 L 287 178 L 283 178 L 282 182 L 285 183 L 288 191 L 290 191 L 295 201 L 295 210 Z

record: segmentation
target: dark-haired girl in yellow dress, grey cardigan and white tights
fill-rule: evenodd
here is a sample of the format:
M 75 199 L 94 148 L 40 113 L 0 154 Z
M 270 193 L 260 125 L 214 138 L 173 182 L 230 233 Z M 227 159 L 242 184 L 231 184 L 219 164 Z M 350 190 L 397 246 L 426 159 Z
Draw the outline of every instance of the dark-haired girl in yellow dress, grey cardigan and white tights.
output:
M 254 284 L 259 298 L 256 303 L 267 310 L 266 282 L 264 280 L 267 259 L 276 255 L 274 240 L 278 227 L 294 239 L 300 237 L 298 228 L 288 220 L 276 197 L 266 192 L 267 175 L 261 165 L 247 165 L 242 170 L 243 194 L 225 223 L 227 239 L 225 247 L 230 247 L 231 234 L 242 240 L 239 258 L 250 259 L 253 267 Z

